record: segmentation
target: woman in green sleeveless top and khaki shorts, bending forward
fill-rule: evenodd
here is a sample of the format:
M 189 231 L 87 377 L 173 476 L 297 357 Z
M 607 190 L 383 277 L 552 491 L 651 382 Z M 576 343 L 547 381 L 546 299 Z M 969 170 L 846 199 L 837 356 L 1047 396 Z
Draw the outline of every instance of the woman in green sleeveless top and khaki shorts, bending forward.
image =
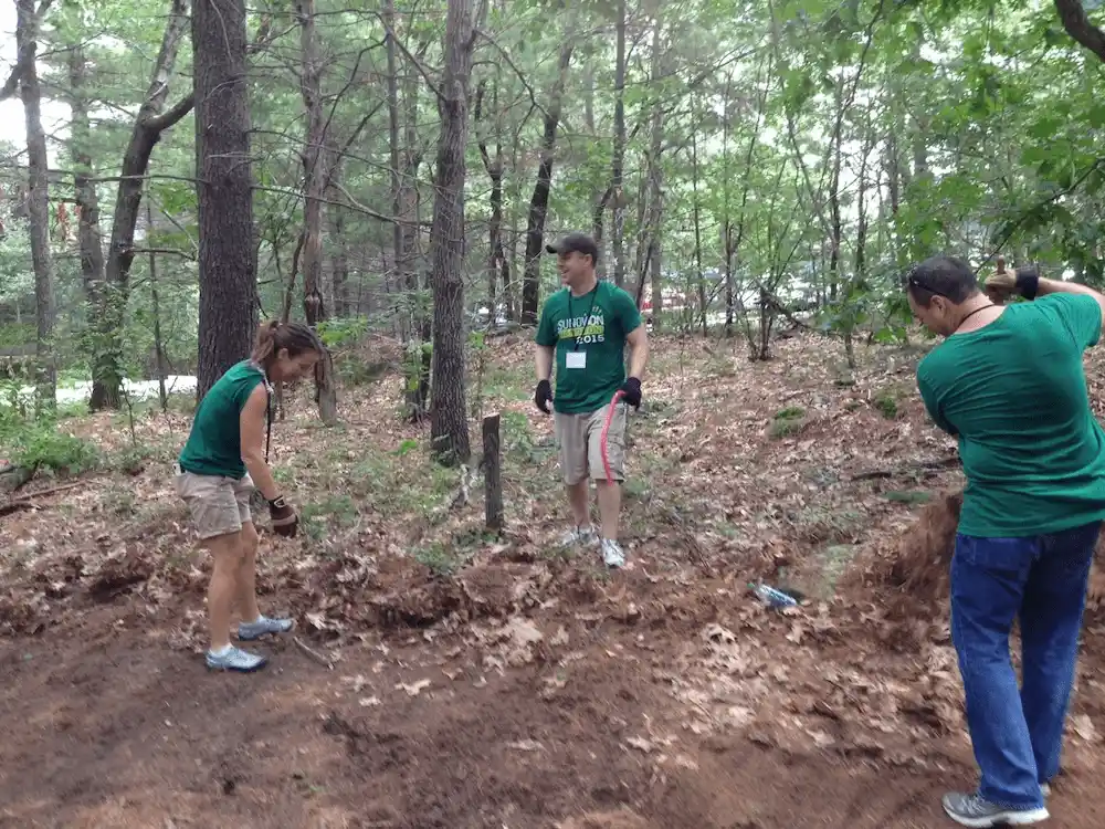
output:
M 257 532 L 250 514 L 254 490 L 269 502 L 273 531 L 291 537 L 298 517 L 280 494 L 269 469 L 272 384 L 291 382 L 316 370 L 326 348 L 299 323 L 262 326 L 250 359 L 232 366 L 203 396 L 180 453 L 177 493 L 188 504 L 200 542 L 213 558 L 208 587 L 208 668 L 255 671 L 266 659 L 232 647 L 230 613 L 242 613 L 238 638 L 285 633 L 291 619 L 270 619 L 257 608 Z M 326 370 L 327 363 L 323 363 Z

